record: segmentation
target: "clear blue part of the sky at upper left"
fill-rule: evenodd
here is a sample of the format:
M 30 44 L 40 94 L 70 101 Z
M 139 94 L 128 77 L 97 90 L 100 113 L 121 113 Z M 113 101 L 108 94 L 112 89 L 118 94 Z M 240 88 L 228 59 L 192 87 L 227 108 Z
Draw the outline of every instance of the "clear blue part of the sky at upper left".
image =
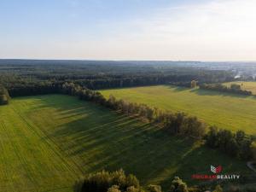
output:
M 125 22 L 169 4 L 166 0 L 1 0 L 1 35 L 15 36 L 19 31 L 27 40 L 60 33 L 98 35 L 102 30 L 114 30 L 102 28 L 102 23 Z

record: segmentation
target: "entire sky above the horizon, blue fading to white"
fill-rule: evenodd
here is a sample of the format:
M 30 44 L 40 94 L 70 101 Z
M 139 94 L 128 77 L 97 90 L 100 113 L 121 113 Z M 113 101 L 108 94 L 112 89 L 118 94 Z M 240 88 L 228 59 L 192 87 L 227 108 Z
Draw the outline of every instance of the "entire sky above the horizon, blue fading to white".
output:
M 0 58 L 256 61 L 255 0 L 1 0 Z

